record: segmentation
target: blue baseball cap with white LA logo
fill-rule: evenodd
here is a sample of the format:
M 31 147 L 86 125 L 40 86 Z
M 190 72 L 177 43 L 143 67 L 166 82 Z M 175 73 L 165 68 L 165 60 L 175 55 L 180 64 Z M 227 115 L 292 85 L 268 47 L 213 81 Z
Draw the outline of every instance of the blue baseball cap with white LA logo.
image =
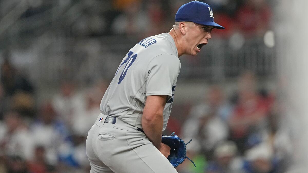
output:
M 176 12 L 175 21 L 195 22 L 201 25 L 213 26 L 221 30 L 225 29 L 223 26 L 214 22 L 212 8 L 208 4 L 197 0 L 182 5 Z

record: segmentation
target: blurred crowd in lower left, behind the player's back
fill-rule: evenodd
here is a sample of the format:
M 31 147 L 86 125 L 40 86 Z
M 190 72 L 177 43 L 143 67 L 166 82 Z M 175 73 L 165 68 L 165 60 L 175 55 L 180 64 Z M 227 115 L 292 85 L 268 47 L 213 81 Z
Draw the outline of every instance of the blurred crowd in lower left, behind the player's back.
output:
M 37 102 L 36 86 L 5 59 L 0 85 L 0 172 L 89 172 L 86 138 L 107 85 L 82 92 L 63 80 L 50 99 Z M 43 96 L 44 98 L 44 96 Z

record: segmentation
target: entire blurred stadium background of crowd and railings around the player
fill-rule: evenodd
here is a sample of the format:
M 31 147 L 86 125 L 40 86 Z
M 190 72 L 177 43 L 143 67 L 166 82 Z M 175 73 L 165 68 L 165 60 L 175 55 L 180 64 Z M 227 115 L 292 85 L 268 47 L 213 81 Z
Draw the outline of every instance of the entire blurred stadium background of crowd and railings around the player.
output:
M 180 57 L 164 134 L 193 139 L 188 157 L 197 167 L 187 161 L 177 171 L 306 172 L 294 163 L 305 153 L 296 149 L 304 123 L 288 109 L 305 115 L 296 105 L 307 103 L 304 87 L 291 99 L 302 102 L 287 99 L 305 70 L 290 73 L 302 59 L 288 58 L 305 48 L 287 51 L 294 42 L 286 33 L 301 19 L 296 2 L 307 2 L 202 1 L 226 30 L 213 30 L 196 57 Z M 141 39 L 168 32 L 187 2 L 0 0 L 0 173 L 89 172 L 87 131 L 116 68 Z

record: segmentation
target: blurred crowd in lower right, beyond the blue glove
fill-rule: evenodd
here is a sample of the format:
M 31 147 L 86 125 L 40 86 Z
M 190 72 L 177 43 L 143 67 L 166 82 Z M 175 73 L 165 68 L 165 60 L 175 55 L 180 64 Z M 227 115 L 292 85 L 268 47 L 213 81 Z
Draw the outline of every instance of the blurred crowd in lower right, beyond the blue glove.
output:
M 225 95 L 213 84 L 204 102 L 193 105 L 181 132 L 188 142 L 186 161 L 179 173 L 280 173 L 292 164 L 290 119 L 276 91 L 258 87 L 256 76 L 246 71 L 237 89 Z M 173 121 L 176 121 L 173 119 Z M 169 127 L 169 131 L 176 127 Z

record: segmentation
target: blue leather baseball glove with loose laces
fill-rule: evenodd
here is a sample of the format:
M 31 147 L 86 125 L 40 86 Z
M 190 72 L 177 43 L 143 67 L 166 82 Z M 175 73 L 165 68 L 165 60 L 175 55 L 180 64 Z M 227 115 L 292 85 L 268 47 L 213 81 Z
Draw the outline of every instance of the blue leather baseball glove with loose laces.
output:
M 190 143 L 190 141 L 188 143 Z M 161 142 L 167 144 L 171 148 L 170 155 L 167 159 L 173 165 L 173 167 L 179 166 L 179 164 L 183 163 L 186 158 L 193 163 L 191 159 L 186 157 L 186 145 L 188 143 L 184 143 L 180 137 L 174 135 L 174 132 L 172 132 L 170 136 L 163 135 Z M 193 165 L 196 167 L 195 163 L 193 163 Z

